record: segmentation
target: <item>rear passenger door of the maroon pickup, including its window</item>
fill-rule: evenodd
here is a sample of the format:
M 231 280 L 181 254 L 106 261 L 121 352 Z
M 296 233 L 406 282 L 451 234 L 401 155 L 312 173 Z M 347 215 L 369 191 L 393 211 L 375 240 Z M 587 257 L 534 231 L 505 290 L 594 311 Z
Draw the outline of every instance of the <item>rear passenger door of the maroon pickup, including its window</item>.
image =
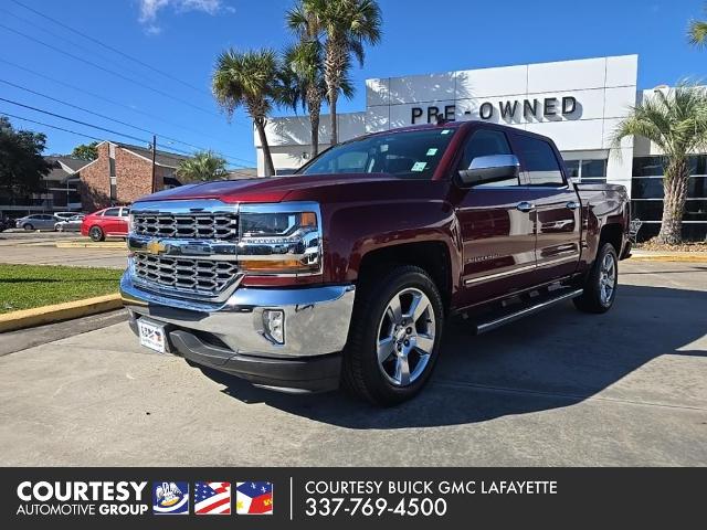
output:
M 536 223 L 537 282 L 572 274 L 580 257 L 580 199 L 562 172 L 559 153 L 542 138 L 513 134 L 525 201 Z

